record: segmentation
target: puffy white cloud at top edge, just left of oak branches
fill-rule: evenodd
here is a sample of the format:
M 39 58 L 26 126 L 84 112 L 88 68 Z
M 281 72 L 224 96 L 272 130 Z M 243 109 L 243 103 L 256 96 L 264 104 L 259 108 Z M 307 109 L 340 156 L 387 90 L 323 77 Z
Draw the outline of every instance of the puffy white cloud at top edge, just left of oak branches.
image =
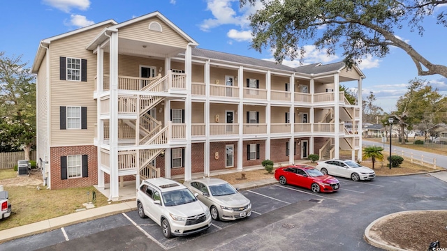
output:
M 244 15 L 237 16 L 236 11 L 232 7 L 232 3 L 237 0 L 208 0 L 207 10 L 210 10 L 214 18 L 203 20 L 200 29 L 209 31 L 210 29 L 222 24 L 236 24 L 244 26 L 249 23 Z

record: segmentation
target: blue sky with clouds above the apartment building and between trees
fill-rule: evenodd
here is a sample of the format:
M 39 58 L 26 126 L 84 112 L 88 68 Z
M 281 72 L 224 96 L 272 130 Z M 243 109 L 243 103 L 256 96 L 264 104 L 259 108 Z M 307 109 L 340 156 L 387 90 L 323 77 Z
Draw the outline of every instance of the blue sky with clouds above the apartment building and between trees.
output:
M 104 20 L 124 22 L 156 10 L 198 41 L 200 48 L 272 60 L 270 50 L 261 54 L 250 48 L 247 15 L 255 8 L 241 9 L 238 0 L 33 0 L 26 3 L 3 0 L 0 9 L 0 51 L 6 52 L 6 56 L 22 55 L 22 61 L 28 62 L 29 67 L 40 40 Z M 447 29 L 435 24 L 434 15 L 424 20 L 424 26 L 423 37 L 406 28 L 395 35 L 432 63 L 447 65 L 444 45 Z M 305 63 L 342 60 L 341 54 L 325 56 L 324 51 L 315 50 L 311 43 L 305 47 Z M 298 61 L 284 61 L 284 64 L 299 66 Z M 418 77 L 413 61 L 398 48 L 392 48 L 383 59 L 365 58 L 360 68 L 367 77 L 363 80 L 363 96 L 373 91 L 377 98 L 375 104 L 384 112 L 394 109 L 396 100 L 406 92 L 409 80 Z M 441 75 L 420 78 L 447 94 L 447 79 Z M 356 87 L 353 82 L 346 85 Z

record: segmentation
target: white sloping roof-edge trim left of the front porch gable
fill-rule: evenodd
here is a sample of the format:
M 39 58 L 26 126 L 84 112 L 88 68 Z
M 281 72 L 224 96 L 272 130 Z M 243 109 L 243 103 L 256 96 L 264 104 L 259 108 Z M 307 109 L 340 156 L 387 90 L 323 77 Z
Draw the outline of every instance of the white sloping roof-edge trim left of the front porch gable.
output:
M 39 66 L 41 66 L 43 56 L 45 56 L 45 54 L 46 54 L 47 45 L 50 45 L 52 43 L 52 41 L 59 40 L 61 38 L 66 38 L 68 36 L 73 36 L 75 34 L 78 34 L 78 33 L 84 32 L 84 31 L 88 31 L 90 29 L 95 29 L 96 27 L 107 25 L 107 24 L 115 25 L 115 24 L 117 24 L 117 22 L 115 22 L 114 20 L 106 20 L 103 22 L 98 22 L 97 24 L 91 24 L 89 26 L 85 26 L 80 29 L 75 29 L 74 31 L 68 31 L 66 33 L 62 33 L 57 36 L 52 36 L 50 38 L 45 38 L 45 39 L 41 40 L 41 42 L 39 43 L 37 52 L 36 52 L 36 56 L 34 57 L 33 66 L 31 67 L 31 73 L 37 73 Z

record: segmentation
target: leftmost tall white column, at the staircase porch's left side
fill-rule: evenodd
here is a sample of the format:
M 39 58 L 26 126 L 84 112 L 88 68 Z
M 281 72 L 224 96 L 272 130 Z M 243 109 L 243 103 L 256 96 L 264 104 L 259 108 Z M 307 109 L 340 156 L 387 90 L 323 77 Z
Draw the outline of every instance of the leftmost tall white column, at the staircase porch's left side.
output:
M 101 145 L 104 137 L 104 123 L 101 121 L 101 93 L 103 92 L 104 81 L 104 50 L 101 45 L 97 47 L 96 54 L 96 142 L 98 160 L 98 189 L 104 189 L 104 172 L 101 171 Z

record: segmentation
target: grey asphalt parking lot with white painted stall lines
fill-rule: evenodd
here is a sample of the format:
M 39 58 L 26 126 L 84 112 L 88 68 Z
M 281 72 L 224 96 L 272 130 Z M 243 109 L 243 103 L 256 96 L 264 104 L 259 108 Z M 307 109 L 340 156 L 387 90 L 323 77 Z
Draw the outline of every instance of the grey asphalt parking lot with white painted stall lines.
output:
M 445 208 L 446 183 L 430 175 L 339 181 L 330 194 L 279 183 L 244 190 L 249 218 L 213 221 L 193 236 L 164 238 L 159 225 L 131 211 L 2 243 L 0 250 L 378 250 L 362 238 L 376 218 Z

